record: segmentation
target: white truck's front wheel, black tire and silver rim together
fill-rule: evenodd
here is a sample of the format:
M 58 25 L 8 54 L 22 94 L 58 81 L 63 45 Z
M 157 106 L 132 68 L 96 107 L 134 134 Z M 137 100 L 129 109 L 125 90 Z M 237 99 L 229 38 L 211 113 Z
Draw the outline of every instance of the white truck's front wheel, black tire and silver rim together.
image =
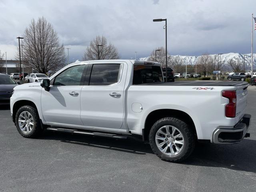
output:
M 15 116 L 18 132 L 26 138 L 34 138 L 42 132 L 36 108 L 26 105 L 18 109 Z

